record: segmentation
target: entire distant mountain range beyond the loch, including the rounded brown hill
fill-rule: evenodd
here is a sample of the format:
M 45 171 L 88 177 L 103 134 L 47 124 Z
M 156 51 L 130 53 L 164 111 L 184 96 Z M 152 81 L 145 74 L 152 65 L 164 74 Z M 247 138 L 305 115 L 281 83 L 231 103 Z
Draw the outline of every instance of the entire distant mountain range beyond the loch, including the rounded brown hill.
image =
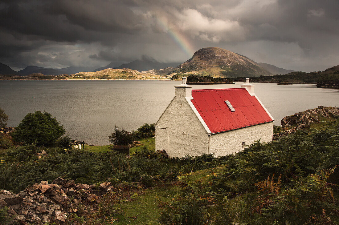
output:
M 237 76 L 260 76 L 286 74 L 294 70 L 286 70 L 267 63 L 256 63 L 247 57 L 216 47 L 202 48 L 194 53 L 193 57 L 186 62 L 162 63 L 157 60 L 143 56 L 141 59 L 130 63 L 115 66 L 114 62 L 105 67 L 75 67 L 66 68 L 44 68 L 38 66 L 27 66 L 20 71 L 14 71 L 9 66 L 0 63 L 0 74 L 29 75 L 41 73 L 45 75 L 75 74 L 78 72 L 96 72 L 104 69 L 128 68 L 143 73 L 165 76 L 168 74 L 197 74 L 211 75 L 216 77 L 237 77 Z M 178 66 L 179 65 L 179 66 Z M 176 68 L 175 68 L 176 67 Z

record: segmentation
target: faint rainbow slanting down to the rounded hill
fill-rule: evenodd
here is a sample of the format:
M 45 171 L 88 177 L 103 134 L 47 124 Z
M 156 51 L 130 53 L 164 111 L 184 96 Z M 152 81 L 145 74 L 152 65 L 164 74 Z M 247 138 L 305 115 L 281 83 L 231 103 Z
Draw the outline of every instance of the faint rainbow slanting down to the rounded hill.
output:
M 187 40 L 187 38 L 182 35 L 175 26 L 169 26 L 167 21 L 162 17 L 157 17 L 159 25 L 167 31 L 167 33 L 172 37 L 172 39 L 179 45 L 179 47 L 187 54 L 188 57 L 192 57 L 195 52 L 195 48 Z

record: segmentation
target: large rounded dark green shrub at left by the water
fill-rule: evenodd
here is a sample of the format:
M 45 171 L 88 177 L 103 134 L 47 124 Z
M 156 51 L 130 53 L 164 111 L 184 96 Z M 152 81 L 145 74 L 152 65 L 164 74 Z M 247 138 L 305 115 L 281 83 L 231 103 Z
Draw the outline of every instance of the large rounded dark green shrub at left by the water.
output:
M 52 115 L 41 111 L 28 113 L 11 134 L 16 142 L 38 146 L 54 146 L 56 141 L 65 133 L 62 126 Z

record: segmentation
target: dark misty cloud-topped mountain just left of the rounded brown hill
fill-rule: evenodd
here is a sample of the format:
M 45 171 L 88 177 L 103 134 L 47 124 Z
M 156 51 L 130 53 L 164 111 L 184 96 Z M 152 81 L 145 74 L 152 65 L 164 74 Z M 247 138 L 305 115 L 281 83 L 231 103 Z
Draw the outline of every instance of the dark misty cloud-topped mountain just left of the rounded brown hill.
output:
M 113 64 L 113 62 L 108 64 L 105 67 L 97 68 L 93 72 L 103 70 L 103 69 L 107 69 L 107 68 L 112 68 L 112 64 Z M 164 68 L 168 68 L 168 67 L 176 67 L 179 64 L 180 63 L 161 63 L 161 62 L 158 62 L 157 60 L 155 60 L 151 57 L 143 55 L 141 57 L 141 59 L 137 59 L 137 60 L 134 60 L 130 63 L 122 64 L 122 65 L 117 66 L 117 67 L 113 67 L 113 69 L 128 68 L 128 69 L 137 70 L 137 71 L 148 71 L 148 70 L 152 70 L 152 69 L 159 70 L 159 69 L 164 69 Z

